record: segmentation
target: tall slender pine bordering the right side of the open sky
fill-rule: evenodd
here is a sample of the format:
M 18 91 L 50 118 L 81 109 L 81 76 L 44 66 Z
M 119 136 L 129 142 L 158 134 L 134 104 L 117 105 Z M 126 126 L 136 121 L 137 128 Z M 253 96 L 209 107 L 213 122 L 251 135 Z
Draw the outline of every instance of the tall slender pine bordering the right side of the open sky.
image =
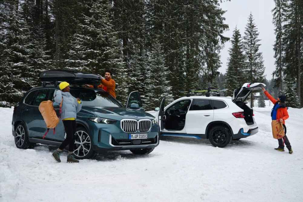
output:
M 272 9 L 273 14 L 273 24 L 275 25 L 275 44 L 274 44 L 274 51 L 275 51 L 275 65 L 276 69 L 273 72 L 273 76 L 275 76 L 277 79 L 277 85 L 279 86 L 280 90 L 282 89 L 282 71 L 284 64 L 284 44 L 283 44 L 283 35 L 284 35 L 284 29 L 283 29 L 283 23 L 285 22 L 285 15 L 286 15 L 286 9 L 287 9 L 287 2 L 288 0 L 274 0 L 275 2 L 275 8 Z

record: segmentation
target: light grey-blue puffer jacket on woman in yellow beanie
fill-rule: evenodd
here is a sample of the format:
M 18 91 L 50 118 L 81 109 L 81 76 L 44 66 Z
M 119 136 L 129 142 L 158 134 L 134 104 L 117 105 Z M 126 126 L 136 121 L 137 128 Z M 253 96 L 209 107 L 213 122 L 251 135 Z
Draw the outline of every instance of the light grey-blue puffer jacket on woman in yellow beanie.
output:
M 69 92 L 62 92 L 61 90 L 57 90 L 54 93 L 54 100 L 56 103 L 60 104 L 61 100 L 63 98 L 62 102 L 62 112 L 61 112 L 61 118 L 67 119 L 67 118 L 76 118 L 77 113 L 82 108 L 82 103 L 79 104 L 77 99 L 72 96 Z

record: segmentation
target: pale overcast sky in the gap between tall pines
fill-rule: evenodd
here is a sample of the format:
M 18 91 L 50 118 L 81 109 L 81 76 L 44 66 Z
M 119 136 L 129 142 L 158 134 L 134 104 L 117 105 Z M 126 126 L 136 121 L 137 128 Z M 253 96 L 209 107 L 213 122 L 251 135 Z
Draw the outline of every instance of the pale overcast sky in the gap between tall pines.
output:
M 255 24 L 258 28 L 259 42 L 261 44 L 259 51 L 263 53 L 265 75 L 267 79 L 271 79 L 271 74 L 275 69 L 275 58 L 273 45 L 275 42 L 274 25 L 272 24 L 271 10 L 275 7 L 273 0 L 231 0 L 230 2 L 221 3 L 221 8 L 227 10 L 224 17 L 225 23 L 229 25 L 229 30 L 224 36 L 232 37 L 235 27 L 240 30 L 241 36 L 244 36 L 245 26 L 247 24 L 248 15 L 252 13 Z M 229 56 L 228 49 L 231 43 L 225 43 L 224 49 L 221 51 L 222 67 L 219 72 L 225 73 L 227 68 L 227 58 Z

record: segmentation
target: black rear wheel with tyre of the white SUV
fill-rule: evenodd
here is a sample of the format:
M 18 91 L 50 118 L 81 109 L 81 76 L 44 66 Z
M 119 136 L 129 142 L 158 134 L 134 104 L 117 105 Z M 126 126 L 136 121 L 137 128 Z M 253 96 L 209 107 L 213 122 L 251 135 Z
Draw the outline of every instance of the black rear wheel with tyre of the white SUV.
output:
M 231 142 L 231 133 L 225 126 L 214 126 L 208 133 L 208 139 L 213 146 L 225 147 Z

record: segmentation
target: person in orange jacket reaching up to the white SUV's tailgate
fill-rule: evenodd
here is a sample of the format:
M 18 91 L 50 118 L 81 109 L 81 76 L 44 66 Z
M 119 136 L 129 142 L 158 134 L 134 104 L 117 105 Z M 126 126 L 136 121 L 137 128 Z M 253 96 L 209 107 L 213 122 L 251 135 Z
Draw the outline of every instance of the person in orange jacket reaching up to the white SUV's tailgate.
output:
M 284 131 L 285 131 L 285 136 L 283 137 L 283 140 L 278 139 L 279 146 L 278 148 L 275 148 L 275 150 L 284 151 L 284 142 L 285 142 L 288 152 L 291 154 L 292 149 L 288 137 L 286 136 L 286 126 L 285 126 L 285 120 L 288 119 L 289 117 L 285 103 L 286 96 L 280 95 L 278 99 L 275 99 L 265 90 L 265 88 L 263 88 L 263 92 L 266 95 L 266 97 L 268 97 L 268 99 L 270 99 L 270 101 L 274 104 L 274 107 L 271 109 L 271 120 L 277 120 L 283 123 Z

